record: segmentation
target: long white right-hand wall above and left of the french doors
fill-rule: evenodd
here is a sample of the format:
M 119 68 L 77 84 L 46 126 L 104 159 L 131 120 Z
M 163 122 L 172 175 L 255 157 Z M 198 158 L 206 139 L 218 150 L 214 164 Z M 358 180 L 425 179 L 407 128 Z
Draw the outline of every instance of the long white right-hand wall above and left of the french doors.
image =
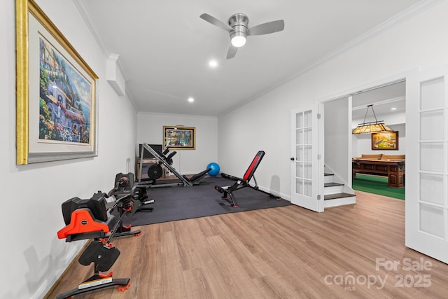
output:
M 290 111 L 318 99 L 356 92 L 367 83 L 415 68 L 448 62 L 448 1 L 339 53 L 275 90 L 218 119 L 218 160 L 225 172 L 241 173 L 258 149 L 267 155 L 257 170 L 260 186 L 290 195 Z M 327 114 L 327 111 L 325 111 Z M 241 134 L 235 134 L 241 132 Z M 232 137 L 234 142 L 229 143 Z M 235 146 L 237 145 L 237 146 Z M 278 182 L 278 183 L 273 183 Z

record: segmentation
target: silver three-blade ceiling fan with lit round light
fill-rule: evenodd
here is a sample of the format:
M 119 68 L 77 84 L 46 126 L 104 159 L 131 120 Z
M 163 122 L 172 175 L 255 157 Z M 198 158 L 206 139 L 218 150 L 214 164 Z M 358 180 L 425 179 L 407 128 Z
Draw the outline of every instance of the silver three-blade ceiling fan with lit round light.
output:
M 246 36 L 279 32 L 285 28 L 283 20 L 267 22 L 249 28 L 249 19 L 244 13 L 232 15 L 228 20 L 228 25 L 207 13 L 200 15 L 200 18 L 229 32 L 231 45 L 227 52 L 227 59 L 235 57 L 238 48 L 246 43 Z

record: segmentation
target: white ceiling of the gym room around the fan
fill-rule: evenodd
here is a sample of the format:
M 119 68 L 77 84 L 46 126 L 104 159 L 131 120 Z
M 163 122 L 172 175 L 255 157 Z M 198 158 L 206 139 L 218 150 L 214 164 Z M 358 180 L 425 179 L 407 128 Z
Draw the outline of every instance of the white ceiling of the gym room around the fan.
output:
M 220 116 L 250 102 L 419 2 L 74 1 L 104 55 L 118 55 L 126 94 L 138 111 L 195 116 Z M 249 27 L 284 20 L 285 29 L 248 36 L 226 60 L 228 32 L 202 20 L 202 13 L 225 23 L 244 13 Z M 209 67 L 209 60 L 218 66 Z

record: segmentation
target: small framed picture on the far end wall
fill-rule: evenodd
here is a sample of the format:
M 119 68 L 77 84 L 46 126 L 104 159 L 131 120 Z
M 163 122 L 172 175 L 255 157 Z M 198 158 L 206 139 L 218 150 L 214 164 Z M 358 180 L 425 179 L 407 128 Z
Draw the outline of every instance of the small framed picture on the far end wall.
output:
M 163 147 L 170 149 L 190 149 L 196 148 L 196 128 L 195 127 L 163 127 Z

